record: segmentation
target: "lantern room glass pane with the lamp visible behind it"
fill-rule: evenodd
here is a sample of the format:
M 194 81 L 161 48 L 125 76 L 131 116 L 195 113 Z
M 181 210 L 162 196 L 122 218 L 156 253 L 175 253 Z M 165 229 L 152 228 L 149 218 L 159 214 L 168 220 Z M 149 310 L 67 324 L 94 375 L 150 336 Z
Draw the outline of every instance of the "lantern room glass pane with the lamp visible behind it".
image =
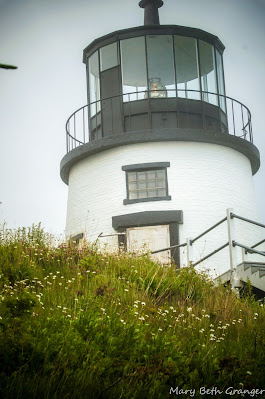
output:
M 150 97 L 176 97 L 172 36 L 149 35 L 146 45 Z

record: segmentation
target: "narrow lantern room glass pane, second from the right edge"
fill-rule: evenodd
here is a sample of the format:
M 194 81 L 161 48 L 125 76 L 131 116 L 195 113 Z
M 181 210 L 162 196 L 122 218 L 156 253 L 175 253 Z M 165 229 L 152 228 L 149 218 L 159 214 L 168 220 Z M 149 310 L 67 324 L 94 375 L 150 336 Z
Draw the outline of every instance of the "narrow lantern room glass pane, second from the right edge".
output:
M 202 91 L 217 93 L 214 47 L 199 40 L 200 70 Z M 202 93 L 202 99 L 211 104 L 218 104 L 218 96 Z

